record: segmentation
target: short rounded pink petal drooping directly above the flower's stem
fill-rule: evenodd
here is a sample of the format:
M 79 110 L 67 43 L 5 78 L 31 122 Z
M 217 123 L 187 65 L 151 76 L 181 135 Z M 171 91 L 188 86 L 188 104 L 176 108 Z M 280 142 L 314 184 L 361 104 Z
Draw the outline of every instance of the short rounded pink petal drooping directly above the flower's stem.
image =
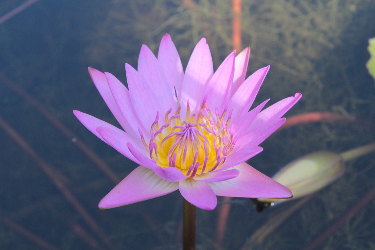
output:
M 198 208 L 213 210 L 217 205 L 217 198 L 206 182 L 187 178 L 179 182 L 178 189 L 188 202 Z

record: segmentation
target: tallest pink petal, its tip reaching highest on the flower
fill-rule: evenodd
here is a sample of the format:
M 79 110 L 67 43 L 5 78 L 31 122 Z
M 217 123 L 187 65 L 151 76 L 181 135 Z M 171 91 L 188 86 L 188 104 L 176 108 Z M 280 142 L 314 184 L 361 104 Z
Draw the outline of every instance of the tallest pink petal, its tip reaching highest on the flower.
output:
M 157 60 L 168 80 L 169 87 L 176 88 L 177 96 L 181 96 L 184 71 L 180 56 L 169 34 L 165 34 L 160 42 Z

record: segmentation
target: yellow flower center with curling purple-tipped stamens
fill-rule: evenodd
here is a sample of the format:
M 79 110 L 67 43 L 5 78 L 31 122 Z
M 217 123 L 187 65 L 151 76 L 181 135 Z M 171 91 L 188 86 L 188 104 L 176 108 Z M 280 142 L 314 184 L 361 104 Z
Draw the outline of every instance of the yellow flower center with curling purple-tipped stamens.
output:
M 151 125 L 150 143 L 147 145 L 142 133 L 141 139 L 150 151 L 150 158 L 158 166 L 176 167 L 187 177 L 193 178 L 223 164 L 238 137 L 233 138 L 233 125 L 228 130 L 233 109 L 223 122 L 228 107 L 220 116 L 216 108 L 216 117 L 213 117 L 205 101 L 198 116 L 190 116 L 189 101 L 186 106 L 185 120 L 181 120 L 179 106 L 171 117 L 169 115 L 172 109 L 166 112 L 165 124 L 162 126 L 159 126 L 157 111 L 156 119 Z

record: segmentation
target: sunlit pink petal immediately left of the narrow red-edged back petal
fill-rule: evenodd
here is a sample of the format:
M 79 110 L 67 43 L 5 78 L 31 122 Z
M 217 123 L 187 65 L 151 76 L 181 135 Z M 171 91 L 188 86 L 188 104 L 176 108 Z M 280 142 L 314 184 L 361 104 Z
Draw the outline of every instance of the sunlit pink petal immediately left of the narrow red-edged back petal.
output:
M 205 90 L 205 94 L 209 93 L 207 98 L 208 107 L 213 109 L 217 107 L 219 112 L 223 111 L 232 94 L 235 58 L 236 51 L 233 51 L 225 58 L 213 74 Z

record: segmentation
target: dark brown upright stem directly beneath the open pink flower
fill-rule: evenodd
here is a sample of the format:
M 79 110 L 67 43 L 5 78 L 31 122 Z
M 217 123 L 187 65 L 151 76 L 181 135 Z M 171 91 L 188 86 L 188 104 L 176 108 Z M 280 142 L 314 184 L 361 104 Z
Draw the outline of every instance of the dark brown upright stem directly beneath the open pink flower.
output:
M 183 250 L 195 249 L 195 206 L 184 199 Z

